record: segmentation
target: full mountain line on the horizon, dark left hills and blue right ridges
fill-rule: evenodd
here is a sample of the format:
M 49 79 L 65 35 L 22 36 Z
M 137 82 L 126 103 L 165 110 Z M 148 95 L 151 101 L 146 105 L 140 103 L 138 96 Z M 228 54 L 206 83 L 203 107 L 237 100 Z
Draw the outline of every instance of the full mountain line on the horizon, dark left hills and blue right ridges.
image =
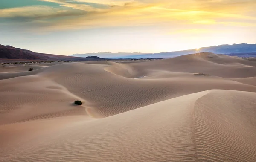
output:
M 256 57 L 256 44 L 233 44 L 203 47 L 200 49 L 189 49 L 184 51 L 162 52 L 162 53 L 87 53 L 73 54 L 70 56 L 52 55 L 45 53 L 32 52 L 27 49 L 15 48 L 12 46 L 0 45 L 0 59 L 17 59 L 17 60 L 40 60 L 40 61 L 89 61 L 104 59 L 139 59 L 139 58 L 172 58 L 180 55 L 187 55 L 199 52 L 212 52 L 216 54 L 225 54 L 238 57 Z

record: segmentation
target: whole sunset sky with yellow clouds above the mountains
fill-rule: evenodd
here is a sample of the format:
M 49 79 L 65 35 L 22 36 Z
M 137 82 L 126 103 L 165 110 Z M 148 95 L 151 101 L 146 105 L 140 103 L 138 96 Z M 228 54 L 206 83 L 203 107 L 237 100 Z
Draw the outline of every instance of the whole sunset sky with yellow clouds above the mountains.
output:
M 256 43 L 256 0 L 0 0 L 0 44 L 34 52 L 170 52 Z

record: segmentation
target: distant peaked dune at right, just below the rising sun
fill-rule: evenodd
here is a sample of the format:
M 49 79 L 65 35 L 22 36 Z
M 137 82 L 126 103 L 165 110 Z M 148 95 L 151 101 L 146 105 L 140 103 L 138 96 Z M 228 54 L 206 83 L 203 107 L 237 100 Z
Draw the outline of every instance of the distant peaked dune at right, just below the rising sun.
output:
M 144 69 L 145 73 L 152 70 L 163 70 L 204 73 L 223 78 L 247 78 L 256 75 L 256 64 L 254 61 L 208 52 L 149 61 L 141 64 L 131 64 L 130 66 L 134 69 Z

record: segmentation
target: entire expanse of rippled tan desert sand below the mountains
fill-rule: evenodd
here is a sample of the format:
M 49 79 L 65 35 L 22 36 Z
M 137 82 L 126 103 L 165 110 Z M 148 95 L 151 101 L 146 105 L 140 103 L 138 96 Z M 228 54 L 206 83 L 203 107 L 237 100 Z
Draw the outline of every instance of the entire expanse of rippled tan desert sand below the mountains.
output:
M 0 162 L 256 161 L 255 61 L 33 66 L 0 67 Z

